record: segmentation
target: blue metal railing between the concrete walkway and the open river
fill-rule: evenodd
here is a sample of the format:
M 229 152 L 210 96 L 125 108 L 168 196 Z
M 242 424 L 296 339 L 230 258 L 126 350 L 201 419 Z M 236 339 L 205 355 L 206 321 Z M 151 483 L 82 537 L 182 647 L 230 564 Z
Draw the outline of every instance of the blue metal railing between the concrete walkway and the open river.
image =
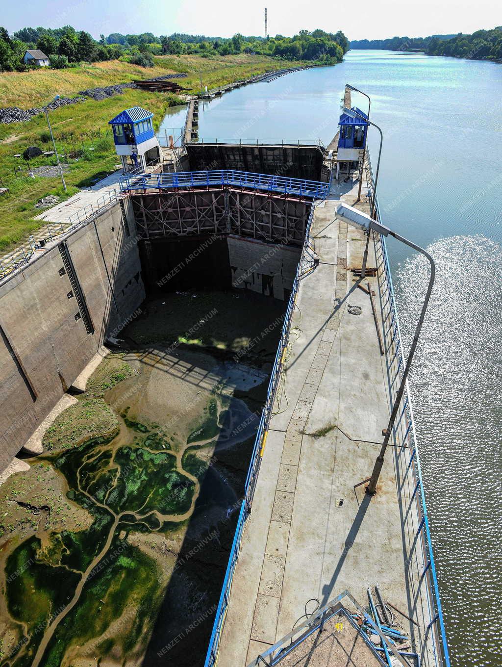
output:
M 371 168 L 371 161 L 369 159 L 369 152 L 367 152 L 367 183 L 368 183 L 368 196 L 373 195 L 373 170 Z M 379 220 L 381 219 L 378 198 L 375 193 L 375 198 L 373 201 L 373 217 Z M 375 235 L 375 255 L 378 263 L 378 274 L 380 281 L 380 295 L 381 295 L 381 311 L 382 311 L 382 321 L 383 321 L 383 332 L 385 345 L 387 346 L 387 340 L 389 340 L 387 349 L 387 370 L 389 372 L 389 380 L 391 381 L 389 392 L 391 402 L 395 396 L 395 391 L 397 387 L 396 380 L 401 378 L 404 360 L 403 360 L 403 346 L 401 344 L 401 329 L 399 327 L 399 316 L 397 314 L 397 308 L 395 305 L 394 299 L 394 287 L 392 283 L 391 269 L 389 264 L 389 256 L 387 254 L 387 245 L 385 243 L 385 237 L 382 235 Z M 394 354 L 390 356 L 392 347 L 394 346 Z M 403 422 L 403 418 L 405 421 Z M 400 442 L 397 442 L 399 431 L 404 432 L 404 436 L 399 438 Z M 406 383 L 406 390 L 403 396 L 403 410 L 397 424 L 394 427 L 394 438 L 396 444 L 404 445 L 407 444 L 407 449 L 399 450 L 398 457 L 403 455 L 403 452 L 409 452 L 409 462 L 406 465 L 403 482 L 401 484 L 401 490 L 407 480 L 409 471 L 413 472 L 413 484 L 412 488 L 413 494 L 409 499 L 409 508 L 407 514 L 405 515 L 405 521 L 407 520 L 411 504 L 415 499 L 417 492 L 419 491 L 419 502 L 417 506 L 419 508 L 419 527 L 415 531 L 413 544 L 410 548 L 409 560 L 413 555 L 413 550 L 416 547 L 417 540 L 420 538 L 423 547 L 423 554 L 425 556 L 425 567 L 421 573 L 421 580 L 424 578 L 427 580 L 429 586 L 429 595 L 427 596 L 432 603 L 432 608 L 429 609 L 429 614 L 431 622 L 426 628 L 424 644 L 427 642 L 427 637 L 431 628 L 436 630 L 436 642 L 433 642 L 433 652 L 435 656 L 436 664 L 442 664 L 445 667 L 449 667 L 449 651 L 448 644 L 446 639 L 445 625 L 443 621 L 443 610 L 441 607 L 441 598 L 439 596 L 439 586 L 437 583 L 437 574 L 435 568 L 434 554 L 431 542 L 431 532 L 429 528 L 429 518 L 427 516 L 427 506 L 425 504 L 425 492 L 423 488 L 422 481 L 422 472 L 420 466 L 418 445 L 417 445 L 417 436 L 415 434 L 415 422 L 413 421 L 413 409 L 411 407 L 411 399 L 409 395 L 409 386 Z M 437 655 L 435 646 L 441 651 L 441 656 Z

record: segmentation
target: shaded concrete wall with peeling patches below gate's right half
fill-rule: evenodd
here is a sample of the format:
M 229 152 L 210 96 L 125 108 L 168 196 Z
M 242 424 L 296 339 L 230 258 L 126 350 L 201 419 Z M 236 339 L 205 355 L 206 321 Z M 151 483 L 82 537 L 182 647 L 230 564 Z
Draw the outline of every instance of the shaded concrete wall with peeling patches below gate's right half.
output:
M 239 236 L 228 237 L 232 286 L 288 299 L 301 255 L 299 248 Z

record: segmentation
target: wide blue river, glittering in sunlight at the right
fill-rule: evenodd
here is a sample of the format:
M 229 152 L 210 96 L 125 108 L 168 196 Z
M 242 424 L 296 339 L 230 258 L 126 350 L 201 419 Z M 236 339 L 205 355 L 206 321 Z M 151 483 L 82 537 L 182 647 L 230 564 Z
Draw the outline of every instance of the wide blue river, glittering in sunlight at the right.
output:
M 199 135 L 328 143 L 345 82 L 371 96 L 383 130 L 383 221 L 437 263 L 411 390 L 452 664 L 499 665 L 502 65 L 350 51 L 335 67 L 201 103 Z M 367 110 L 364 97 L 354 93 L 353 103 Z M 378 137 L 370 131 L 374 166 Z M 389 251 L 406 344 L 426 267 L 402 245 Z

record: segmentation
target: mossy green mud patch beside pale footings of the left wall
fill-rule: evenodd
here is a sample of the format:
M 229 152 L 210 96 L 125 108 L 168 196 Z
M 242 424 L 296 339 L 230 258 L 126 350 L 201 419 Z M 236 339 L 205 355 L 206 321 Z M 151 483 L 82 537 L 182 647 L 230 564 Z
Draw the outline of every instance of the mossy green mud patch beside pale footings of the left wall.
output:
M 66 450 L 91 438 L 113 438 L 119 422 L 102 398 L 79 401 L 61 412 L 43 436 L 46 451 Z

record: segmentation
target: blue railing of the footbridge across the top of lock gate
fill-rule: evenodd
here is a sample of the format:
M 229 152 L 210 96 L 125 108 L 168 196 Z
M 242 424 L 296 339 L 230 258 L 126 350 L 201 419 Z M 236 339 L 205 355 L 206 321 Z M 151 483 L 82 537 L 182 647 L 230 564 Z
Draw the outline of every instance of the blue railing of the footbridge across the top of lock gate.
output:
M 301 197 L 325 199 L 329 183 L 306 181 L 299 178 L 218 169 L 215 171 L 178 171 L 177 173 L 145 173 L 124 176 L 119 179 L 121 191 L 162 190 L 208 187 L 210 185 L 233 185 L 250 187 L 267 192 L 277 192 Z

